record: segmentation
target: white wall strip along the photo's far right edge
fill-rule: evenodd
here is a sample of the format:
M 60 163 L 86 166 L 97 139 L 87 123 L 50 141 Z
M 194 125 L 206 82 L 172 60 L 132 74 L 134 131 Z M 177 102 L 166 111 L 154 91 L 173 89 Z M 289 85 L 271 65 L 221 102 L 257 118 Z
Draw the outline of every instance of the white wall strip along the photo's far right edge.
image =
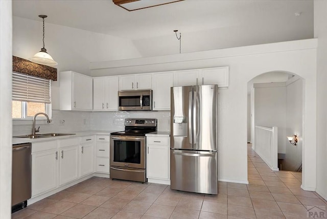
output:
M 327 1 L 314 1 L 317 48 L 317 192 L 327 200 Z

